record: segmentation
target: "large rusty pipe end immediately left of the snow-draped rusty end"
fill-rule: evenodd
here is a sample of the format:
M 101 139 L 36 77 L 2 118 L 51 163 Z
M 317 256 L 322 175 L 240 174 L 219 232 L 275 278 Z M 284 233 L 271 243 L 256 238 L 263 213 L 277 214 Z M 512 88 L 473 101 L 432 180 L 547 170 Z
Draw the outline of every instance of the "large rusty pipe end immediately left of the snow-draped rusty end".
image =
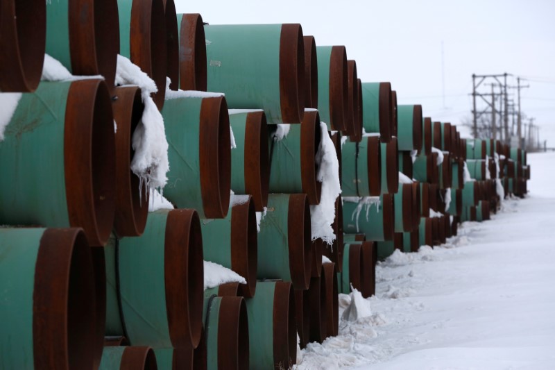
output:
M 64 128 L 67 213 L 91 246 L 108 242 L 115 212 L 115 139 L 112 105 L 102 80 L 71 83 Z

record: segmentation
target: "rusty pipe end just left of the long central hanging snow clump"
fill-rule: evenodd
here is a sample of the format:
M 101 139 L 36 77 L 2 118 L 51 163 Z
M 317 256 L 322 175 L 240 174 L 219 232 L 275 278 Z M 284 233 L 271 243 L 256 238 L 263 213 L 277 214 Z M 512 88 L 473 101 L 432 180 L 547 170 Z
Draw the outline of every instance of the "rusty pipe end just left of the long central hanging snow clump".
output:
M 322 140 L 320 115 L 317 110 L 305 112 L 300 126 L 300 180 L 302 192 L 307 194 L 311 205 L 320 203 L 322 183 L 316 180 L 318 166 L 316 152 Z

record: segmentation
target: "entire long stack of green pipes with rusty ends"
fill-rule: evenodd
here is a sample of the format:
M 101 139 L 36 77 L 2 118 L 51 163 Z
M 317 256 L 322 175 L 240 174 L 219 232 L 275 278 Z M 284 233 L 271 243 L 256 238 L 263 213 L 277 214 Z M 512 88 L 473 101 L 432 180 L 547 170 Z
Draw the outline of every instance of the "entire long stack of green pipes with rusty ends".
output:
M 378 258 L 456 233 L 467 185 L 468 215 L 499 205 L 491 180 L 463 182 L 454 126 L 300 24 L 207 25 L 173 0 L 0 6 L 0 91 L 22 93 L 0 141 L 2 368 L 287 368 L 297 340 L 338 334 L 339 293 L 375 293 Z M 44 53 L 88 78 L 40 81 Z M 173 209 L 148 212 L 130 170 L 151 117 L 118 54 L 157 87 Z M 326 200 L 331 245 L 311 228 L 327 142 L 344 197 Z M 493 144 L 486 166 L 523 196 L 526 154 Z M 209 262 L 245 283 L 205 287 Z

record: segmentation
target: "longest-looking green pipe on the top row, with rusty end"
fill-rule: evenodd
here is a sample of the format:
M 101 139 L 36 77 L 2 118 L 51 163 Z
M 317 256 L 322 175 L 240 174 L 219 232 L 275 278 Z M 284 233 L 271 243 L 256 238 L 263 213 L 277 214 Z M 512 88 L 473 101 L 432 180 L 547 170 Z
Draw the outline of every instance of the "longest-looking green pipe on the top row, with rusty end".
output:
M 207 90 L 230 108 L 261 108 L 272 124 L 305 112 L 305 47 L 300 24 L 207 25 Z

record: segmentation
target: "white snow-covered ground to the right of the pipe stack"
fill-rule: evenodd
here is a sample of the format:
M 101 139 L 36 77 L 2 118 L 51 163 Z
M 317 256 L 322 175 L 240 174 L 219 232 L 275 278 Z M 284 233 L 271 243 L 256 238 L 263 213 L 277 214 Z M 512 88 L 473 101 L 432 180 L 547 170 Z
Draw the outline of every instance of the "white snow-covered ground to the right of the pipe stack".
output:
M 525 199 L 443 246 L 396 251 L 371 315 L 309 344 L 297 369 L 555 369 L 555 153 L 528 162 Z

